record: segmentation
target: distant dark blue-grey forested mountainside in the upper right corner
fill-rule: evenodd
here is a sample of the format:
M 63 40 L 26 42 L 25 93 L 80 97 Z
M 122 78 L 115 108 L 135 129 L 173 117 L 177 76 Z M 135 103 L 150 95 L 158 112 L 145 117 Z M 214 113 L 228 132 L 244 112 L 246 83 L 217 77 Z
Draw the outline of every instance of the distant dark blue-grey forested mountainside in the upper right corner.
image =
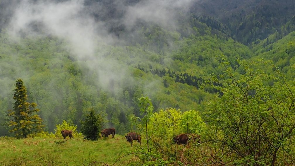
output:
M 292 32 L 294 7 L 291 0 L 209 0 L 195 3 L 191 10 L 212 28 L 227 30 L 235 40 L 251 45 L 275 32 L 280 37 Z

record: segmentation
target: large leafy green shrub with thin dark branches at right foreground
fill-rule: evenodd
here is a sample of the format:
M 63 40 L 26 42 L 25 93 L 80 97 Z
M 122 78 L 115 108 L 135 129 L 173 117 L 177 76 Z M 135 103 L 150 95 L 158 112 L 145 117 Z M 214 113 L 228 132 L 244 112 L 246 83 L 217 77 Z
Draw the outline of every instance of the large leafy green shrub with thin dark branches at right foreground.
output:
M 204 113 L 210 126 L 208 139 L 222 149 L 214 160 L 226 165 L 282 165 L 293 160 L 294 82 L 287 82 L 269 62 L 237 61 L 242 75 L 229 67 L 224 56 L 219 58 L 224 74 L 214 80 L 223 86 L 215 87 L 221 93 L 207 103 Z M 272 66 L 277 76 L 264 73 L 259 65 Z

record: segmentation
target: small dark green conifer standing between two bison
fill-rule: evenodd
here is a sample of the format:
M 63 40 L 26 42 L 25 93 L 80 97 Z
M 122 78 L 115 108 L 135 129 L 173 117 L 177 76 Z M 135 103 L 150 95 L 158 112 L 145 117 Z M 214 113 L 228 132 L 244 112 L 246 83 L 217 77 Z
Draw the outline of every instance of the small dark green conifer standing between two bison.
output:
M 98 140 L 100 138 L 102 117 L 95 113 L 94 108 L 90 108 L 85 121 L 81 121 L 81 133 L 84 139 Z

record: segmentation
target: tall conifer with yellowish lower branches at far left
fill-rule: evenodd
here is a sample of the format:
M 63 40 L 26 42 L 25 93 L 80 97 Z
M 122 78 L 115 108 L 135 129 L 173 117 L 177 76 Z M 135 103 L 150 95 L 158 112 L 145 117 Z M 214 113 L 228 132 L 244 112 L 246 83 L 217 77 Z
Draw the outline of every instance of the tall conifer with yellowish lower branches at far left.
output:
M 12 117 L 7 123 L 17 138 L 26 138 L 29 134 L 33 135 L 43 131 L 42 119 L 37 115 L 36 103 L 27 102 L 27 90 L 22 79 L 17 79 L 14 88 L 15 100 L 13 110 L 8 110 L 8 116 Z

